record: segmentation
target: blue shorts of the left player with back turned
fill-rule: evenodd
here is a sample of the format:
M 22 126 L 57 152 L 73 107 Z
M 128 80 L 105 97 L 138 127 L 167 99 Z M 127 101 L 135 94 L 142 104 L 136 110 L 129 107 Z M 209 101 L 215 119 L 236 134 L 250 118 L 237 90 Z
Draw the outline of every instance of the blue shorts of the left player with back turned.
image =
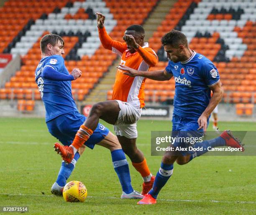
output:
M 86 117 L 84 115 L 74 111 L 60 115 L 47 122 L 46 125 L 51 135 L 57 138 L 63 145 L 71 145 L 77 131 L 85 120 Z M 84 145 L 93 149 L 95 144 L 100 143 L 108 133 L 108 128 L 99 123 Z

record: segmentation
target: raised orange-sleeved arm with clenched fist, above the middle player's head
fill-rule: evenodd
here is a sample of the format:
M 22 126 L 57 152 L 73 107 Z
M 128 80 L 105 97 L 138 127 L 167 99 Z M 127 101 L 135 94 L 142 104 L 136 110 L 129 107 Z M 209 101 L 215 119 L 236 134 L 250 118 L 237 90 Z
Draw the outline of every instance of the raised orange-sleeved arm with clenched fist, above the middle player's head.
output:
M 126 43 L 112 40 L 104 27 L 105 16 L 100 12 L 97 12 L 96 15 L 100 42 L 103 47 L 108 50 L 112 50 L 112 47 L 114 47 L 116 50 L 123 53 L 127 47 Z

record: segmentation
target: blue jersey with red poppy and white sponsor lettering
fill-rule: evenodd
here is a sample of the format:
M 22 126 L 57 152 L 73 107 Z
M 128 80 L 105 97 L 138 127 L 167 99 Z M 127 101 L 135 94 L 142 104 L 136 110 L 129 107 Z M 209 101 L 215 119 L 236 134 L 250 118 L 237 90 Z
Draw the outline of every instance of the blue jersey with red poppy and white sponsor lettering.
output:
M 193 52 L 185 62 L 169 60 L 166 71 L 174 76 L 174 114 L 198 120 L 209 104 L 209 87 L 220 81 L 217 68 L 207 57 Z

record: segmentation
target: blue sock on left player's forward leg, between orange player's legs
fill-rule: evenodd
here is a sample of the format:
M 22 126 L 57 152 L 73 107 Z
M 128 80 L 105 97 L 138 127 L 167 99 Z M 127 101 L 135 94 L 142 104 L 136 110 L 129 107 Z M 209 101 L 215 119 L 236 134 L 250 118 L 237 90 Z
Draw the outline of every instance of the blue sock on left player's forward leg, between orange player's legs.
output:
M 118 175 L 120 184 L 122 186 L 123 192 L 126 194 L 133 192 L 133 187 L 131 186 L 131 176 L 129 171 L 129 166 L 125 158 L 125 154 L 122 149 L 114 150 L 111 152 L 113 167 L 116 174 Z

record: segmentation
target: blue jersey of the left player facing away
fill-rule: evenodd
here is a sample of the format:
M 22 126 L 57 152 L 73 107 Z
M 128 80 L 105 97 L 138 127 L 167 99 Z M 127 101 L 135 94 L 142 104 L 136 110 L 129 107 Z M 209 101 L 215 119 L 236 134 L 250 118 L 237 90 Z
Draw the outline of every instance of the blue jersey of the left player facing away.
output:
M 41 77 L 43 68 L 47 66 L 69 75 L 60 55 L 43 57 L 36 68 L 35 80 L 44 102 L 46 122 L 68 112 L 78 112 L 72 96 L 71 81 L 53 81 Z

